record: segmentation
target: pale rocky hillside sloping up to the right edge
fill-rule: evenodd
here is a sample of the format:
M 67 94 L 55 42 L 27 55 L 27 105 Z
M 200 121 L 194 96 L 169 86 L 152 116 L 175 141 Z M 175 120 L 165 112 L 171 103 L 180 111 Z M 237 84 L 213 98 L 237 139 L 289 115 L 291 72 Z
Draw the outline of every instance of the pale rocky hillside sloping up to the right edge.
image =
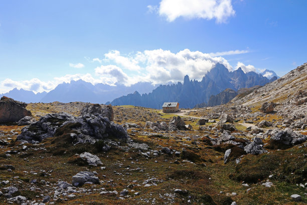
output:
M 274 102 L 277 114 L 291 116 L 306 113 L 306 90 L 307 63 L 251 93 L 236 96 L 231 102 L 234 105 L 252 106 L 255 109 L 259 109 L 263 102 Z

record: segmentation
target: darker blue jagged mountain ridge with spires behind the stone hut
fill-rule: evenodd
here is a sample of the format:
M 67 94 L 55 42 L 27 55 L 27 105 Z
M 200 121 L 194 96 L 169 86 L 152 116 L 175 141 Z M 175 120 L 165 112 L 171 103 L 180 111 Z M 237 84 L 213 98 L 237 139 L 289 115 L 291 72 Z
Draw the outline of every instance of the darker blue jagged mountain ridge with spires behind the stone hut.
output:
M 134 92 L 118 97 L 110 103 L 113 106 L 132 105 L 161 109 L 163 102 L 178 101 L 180 108 L 194 108 L 197 104 L 207 103 L 211 95 L 216 95 L 226 88 L 236 91 L 243 87 L 264 85 L 275 79 L 276 76 L 268 79 L 255 72 L 244 73 L 241 68 L 230 72 L 223 64 L 217 63 L 201 81 L 190 80 L 186 75 L 184 83 L 160 85 L 148 94 Z

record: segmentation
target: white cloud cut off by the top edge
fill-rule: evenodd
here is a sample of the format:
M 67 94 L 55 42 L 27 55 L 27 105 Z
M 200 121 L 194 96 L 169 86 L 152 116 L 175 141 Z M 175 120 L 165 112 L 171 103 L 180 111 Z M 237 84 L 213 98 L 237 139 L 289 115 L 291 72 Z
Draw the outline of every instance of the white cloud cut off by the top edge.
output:
M 159 14 L 166 16 L 169 22 L 184 17 L 187 19 L 216 19 L 217 23 L 225 23 L 229 17 L 235 15 L 235 11 L 231 0 L 162 0 Z

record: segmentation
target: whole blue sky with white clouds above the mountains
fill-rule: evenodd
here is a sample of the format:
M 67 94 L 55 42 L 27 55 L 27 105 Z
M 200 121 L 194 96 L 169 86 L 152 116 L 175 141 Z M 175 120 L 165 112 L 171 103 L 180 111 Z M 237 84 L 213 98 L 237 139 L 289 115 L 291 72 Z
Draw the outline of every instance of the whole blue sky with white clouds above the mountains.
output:
M 201 79 L 229 70 L 282 76 L 307 62 L 307 1 L 0 0 L 0 93 Z

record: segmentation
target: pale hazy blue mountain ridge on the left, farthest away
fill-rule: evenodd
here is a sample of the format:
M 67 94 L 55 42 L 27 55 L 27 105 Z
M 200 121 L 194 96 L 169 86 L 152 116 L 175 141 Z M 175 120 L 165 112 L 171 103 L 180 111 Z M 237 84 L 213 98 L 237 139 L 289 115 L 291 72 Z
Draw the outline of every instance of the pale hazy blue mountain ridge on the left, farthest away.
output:
M 98 104 L 105 104 L 106 101 L 110 101 L 116 97 L 120 97 L 130 92 L 138 90 L 140 93 L 150 92 L 155 89 L 156 86 L 150 82 L 138 82 L 131 86 L 125 86 L 117 84 L 111 86 L 108 84 L 98 83 L 93 85 L 90 82 L 83 80 L 70 81 L 69 83 L 61 83 L 53 90 L 47 92 L 41 92 L 35 94 L 33 91 L 17 89 L 0 94 L 1 96 L 8 96 L 15 100 L 24 102 L 92 102 Z

